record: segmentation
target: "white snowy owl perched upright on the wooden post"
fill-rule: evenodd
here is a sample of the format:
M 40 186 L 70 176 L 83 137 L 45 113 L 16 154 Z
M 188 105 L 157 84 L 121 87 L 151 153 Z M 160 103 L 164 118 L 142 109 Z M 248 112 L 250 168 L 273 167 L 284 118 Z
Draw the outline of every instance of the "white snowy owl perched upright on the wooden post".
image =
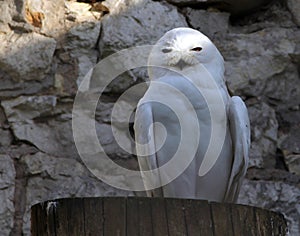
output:
M 148 64 L 134 123 L 147 195 L 235 202 L 250 124 L 242 99 L 228 94 L 222 55 L 199 31 L 176 28 L 158 40 Z

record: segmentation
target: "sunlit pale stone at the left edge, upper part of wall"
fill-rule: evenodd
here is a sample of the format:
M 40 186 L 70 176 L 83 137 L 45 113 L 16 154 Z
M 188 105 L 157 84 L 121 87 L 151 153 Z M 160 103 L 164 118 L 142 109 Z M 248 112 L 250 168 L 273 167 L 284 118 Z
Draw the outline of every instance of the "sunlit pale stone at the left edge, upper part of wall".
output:
M 56 47 L 54 39 L 37 33 L 0 35 L 0 67 L 17 82 L 45 79 Z

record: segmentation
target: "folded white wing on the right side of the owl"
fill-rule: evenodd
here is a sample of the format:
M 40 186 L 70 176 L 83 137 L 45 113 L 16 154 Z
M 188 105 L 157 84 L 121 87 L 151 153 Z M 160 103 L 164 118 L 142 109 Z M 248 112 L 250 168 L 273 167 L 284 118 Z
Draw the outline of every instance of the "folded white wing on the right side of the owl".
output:
M 225 201 L 235 202 L 238 198 L 243 177 L 246 174 L 250 148 L 250 122 L 245 103 L 240 97 L 230 99 L 228 120 L 233 146 L 233 163 Z

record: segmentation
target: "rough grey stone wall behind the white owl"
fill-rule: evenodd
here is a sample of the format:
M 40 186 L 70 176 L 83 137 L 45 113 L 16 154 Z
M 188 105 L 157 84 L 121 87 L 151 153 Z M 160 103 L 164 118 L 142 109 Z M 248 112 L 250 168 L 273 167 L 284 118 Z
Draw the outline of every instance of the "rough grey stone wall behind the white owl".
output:
M 282 212 L 298 235 L 300 4 L 242 2 L 0 0 L 0 235 L 30 235 L 30 206 L 40 201 L 135 194 L 101 182 L 81 161 L 74 97 L 99 60 L 180 26 L 213 40 L 230 92 L 248 105 L 251 161 L 239 202 Z M 96 112 L 107 152 L 133 169 L 136 159 L 114 142 L 109 116 L 118 96 L 145 76 L 120 76 Z

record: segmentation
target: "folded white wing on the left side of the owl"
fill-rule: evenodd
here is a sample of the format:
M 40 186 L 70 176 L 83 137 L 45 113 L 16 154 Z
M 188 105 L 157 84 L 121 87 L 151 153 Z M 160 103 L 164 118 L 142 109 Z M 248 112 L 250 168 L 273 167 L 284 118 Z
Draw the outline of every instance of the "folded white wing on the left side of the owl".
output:
M 136 152 L 141 171 L 150 171 L 158 168 L 155 153 L 153 123 L 151 103 L 138 105 L 135 113 L 134 133 L 136 143 L 141 144 L 136 145 Z M 160 177 L 157 174 L 155 175 L 154 172 L 150 171 L 148 176 L 143 174 L 143 172 L 141 173 L 146 189 L 149 189 L 154 185 L 151 181 L 155 181 L 156 186 L 161 186 Z M 161 188 L 147 190 L 146 192 L 149 197 L 162 197 Z

